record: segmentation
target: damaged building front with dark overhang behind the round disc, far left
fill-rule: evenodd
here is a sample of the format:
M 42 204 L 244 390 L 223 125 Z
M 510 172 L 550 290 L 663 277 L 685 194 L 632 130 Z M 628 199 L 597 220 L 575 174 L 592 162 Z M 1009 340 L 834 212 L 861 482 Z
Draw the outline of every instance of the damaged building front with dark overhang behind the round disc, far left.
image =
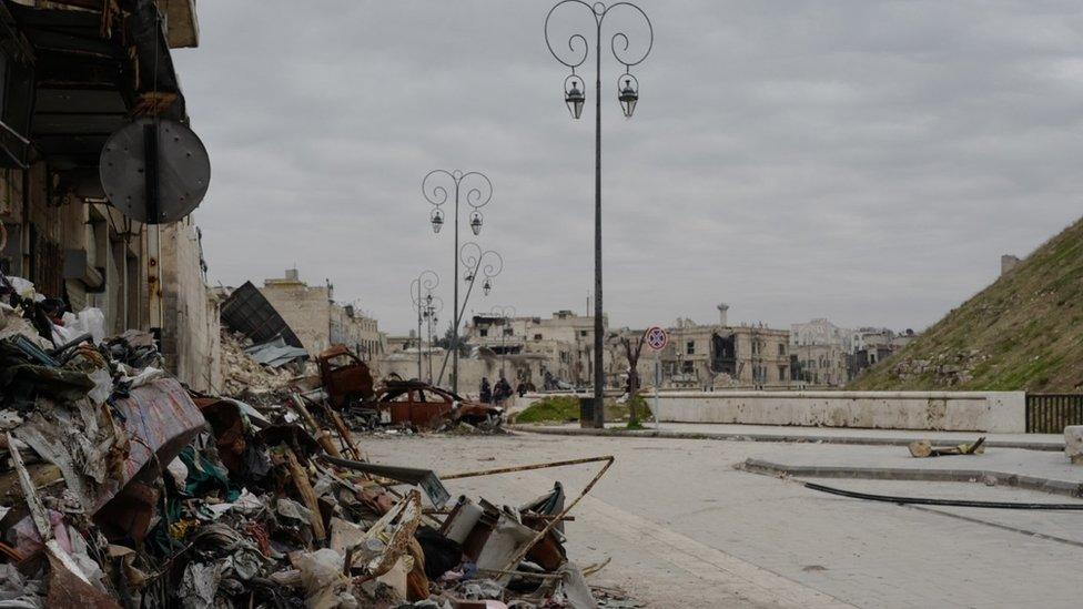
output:
M 171 372 L 213 387 L 198 229 L 125 215 L 100 177 L 107 140 L 133 121 L 188 124 L 172 52 L 199 43 L 195 3 L 3 0 L 0 26 L 0 267 L 65 309 L 101 309 L 107 334 L 152 333 Z

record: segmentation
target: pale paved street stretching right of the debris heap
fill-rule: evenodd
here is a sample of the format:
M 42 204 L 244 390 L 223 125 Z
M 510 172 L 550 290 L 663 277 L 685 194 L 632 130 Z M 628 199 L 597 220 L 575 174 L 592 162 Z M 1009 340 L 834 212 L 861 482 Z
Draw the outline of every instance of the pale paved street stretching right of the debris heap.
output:
M 616 456 L 574 510 L 568 551 L 580 565 L 611 558 L 593 582 L 623 588 L 650 607 L 1079 607 L 1083 596 L 1083 514 L 902 507 L 733 468 L 747 458 L 875 465 L 901 459 L 899 447 L 533 434 L 362 440 L 376 463 L 436 464 L 443 474 Z M 999 449 L 965 465 L 988 458 L 1041 471 L 1045 463 L 1061 477 L 1083 481 L 1083 469 L 1057 457 Z M 927 459 L 938 460 L 948 459 Z M 574 497 L 596 470 L 591 465 L 447 484 L 453 495 L 516 505 L 554 480 Z M 1070 500 L 966 483 L 822 481 L 908 496 Z

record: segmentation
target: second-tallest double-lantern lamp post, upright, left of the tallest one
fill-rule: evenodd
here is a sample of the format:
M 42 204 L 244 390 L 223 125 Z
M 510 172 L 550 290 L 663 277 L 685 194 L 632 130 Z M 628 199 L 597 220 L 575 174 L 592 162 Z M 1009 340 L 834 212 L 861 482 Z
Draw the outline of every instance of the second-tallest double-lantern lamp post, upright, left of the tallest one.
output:
M 469 214 L 469 225 L 470 231 L 478 235 L 482 233 L 482 212 L 480 209 L 484 207 L 490 199 L 493 199 L 493 183 L 484 174 L 476 171 L 470 171 L 463 173 L 462 171 L 446 171 L 446 170 L 434 170 L 428 172 L 422 180 L 422 194 L 425 195 L 425 200 L 433 205 L 433 211 L 429 213 L 429 222 L 433 224 L 433 232 L 439 233 L 441 229 L 444 226 L 444 203 L 448 201 L 454 201 L 455 209 L 453 214 L 455 216 L 454 223 L 454 234 L 455 234 L 455 248 L 452 251 L 452 256 L 455 260 L 455 268 L 453 277 L 458 277 L 458 262 L 459 262 L 459 247 L 458 247 L 458 225 L 459 225 L 459 201 L 464 200 L 466 204 L 470 207 Z M 452 390 L 458 393 L 458 324 L 459 316 L 462 315 L 462 308 L 458 304 L 458 282 L 455 282 L 454 290 L 454 302 L 452 303 L 452 348 L 455 351 L 454 363 L 452 364 Z M 446 359 L 445 359 L 446 362 Z M 443 378 L 444 372 L 441 371 L 441 377 Z

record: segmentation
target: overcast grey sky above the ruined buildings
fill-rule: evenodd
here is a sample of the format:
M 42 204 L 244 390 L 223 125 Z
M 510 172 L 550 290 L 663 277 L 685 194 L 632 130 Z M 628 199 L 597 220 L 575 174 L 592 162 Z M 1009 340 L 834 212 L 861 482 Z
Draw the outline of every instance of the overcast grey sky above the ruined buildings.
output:
M 296 266 L 402 333 L 433 268 L 449 319 L 452 235 L 421 180 L 474 170 L 495 190 L 479 242 L 506 266 L 468 313 L 583 312 L 593 68 L 573 121 L 553 3 L 200 2 L 200 48 L 174 60 L 211 153 L 212 281 Z M 640 6 L 655 45 L 631 121 L 603 52 L 613 324 L 710 322 L 726 302 L 736 322 L 919 329 L 1081 214 L 1079 0 Z

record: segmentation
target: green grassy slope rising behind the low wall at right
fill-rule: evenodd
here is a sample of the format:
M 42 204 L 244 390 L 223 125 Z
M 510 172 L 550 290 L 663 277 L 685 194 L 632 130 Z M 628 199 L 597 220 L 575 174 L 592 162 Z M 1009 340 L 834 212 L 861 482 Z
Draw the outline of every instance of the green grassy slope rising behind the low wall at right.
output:
M 849 388 L 947 387 L 1083 387 L 1083 220 Z

